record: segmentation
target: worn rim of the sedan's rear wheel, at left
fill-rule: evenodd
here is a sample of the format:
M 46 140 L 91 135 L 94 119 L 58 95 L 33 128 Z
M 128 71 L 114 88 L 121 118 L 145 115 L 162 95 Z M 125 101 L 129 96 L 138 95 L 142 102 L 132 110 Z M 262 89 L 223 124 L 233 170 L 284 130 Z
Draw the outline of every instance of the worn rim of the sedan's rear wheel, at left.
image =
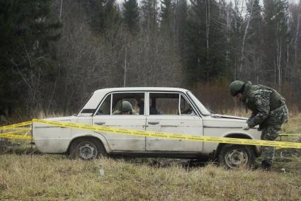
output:
M 79 158 L 84 160 L 96 159 L 97 147 L 91 142 L 81 142 L 77 147 Z

